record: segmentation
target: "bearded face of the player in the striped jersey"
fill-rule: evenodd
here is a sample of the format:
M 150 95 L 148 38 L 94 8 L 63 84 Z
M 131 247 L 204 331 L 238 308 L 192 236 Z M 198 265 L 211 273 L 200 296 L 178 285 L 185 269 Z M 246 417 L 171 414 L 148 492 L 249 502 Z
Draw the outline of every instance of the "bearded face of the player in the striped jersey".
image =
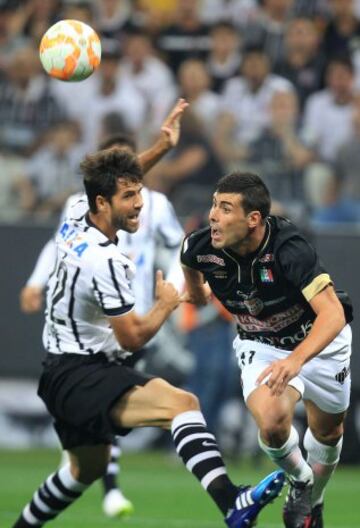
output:
M 135 233 L 139 229 L 139 215 L 143 206 L 142 183 L 119 179 L 117 192 L 110 202 L 110 221 L 113 228 Z

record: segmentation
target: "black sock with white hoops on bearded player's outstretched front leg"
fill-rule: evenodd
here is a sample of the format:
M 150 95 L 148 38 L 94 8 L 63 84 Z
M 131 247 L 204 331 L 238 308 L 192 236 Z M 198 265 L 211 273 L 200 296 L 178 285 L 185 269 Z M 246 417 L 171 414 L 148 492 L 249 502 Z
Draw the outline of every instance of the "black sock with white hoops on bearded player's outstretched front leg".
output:
M 176 451 L 187 469 L 226 515 L 234 504 L 238 488 L 227 475 L 215 436 L 208 431 L 202 413 L 179 414 L 173 420 L 171 433 Z

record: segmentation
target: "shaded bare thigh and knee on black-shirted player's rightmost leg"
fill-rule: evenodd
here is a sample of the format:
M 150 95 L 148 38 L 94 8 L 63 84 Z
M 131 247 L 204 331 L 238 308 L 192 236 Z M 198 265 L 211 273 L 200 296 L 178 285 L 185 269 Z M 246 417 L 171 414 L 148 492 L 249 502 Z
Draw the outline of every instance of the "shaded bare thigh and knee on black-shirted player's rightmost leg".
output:
M 329 413 L 320 409 L 313 401 L 304 400 L 308 425 L 315 438 L 324 444 L 335 445 L 344 432 L 346 411 Z

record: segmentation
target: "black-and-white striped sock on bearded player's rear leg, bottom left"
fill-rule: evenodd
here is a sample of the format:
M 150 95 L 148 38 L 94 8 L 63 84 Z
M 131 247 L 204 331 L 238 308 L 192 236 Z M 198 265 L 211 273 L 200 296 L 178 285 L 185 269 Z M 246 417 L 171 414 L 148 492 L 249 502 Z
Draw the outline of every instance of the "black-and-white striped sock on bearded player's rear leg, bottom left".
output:
M 13 528 L 38 528 L 55 519 L 87 488 L 70 473 L 70 464 L 50 475 L 34 493 Z

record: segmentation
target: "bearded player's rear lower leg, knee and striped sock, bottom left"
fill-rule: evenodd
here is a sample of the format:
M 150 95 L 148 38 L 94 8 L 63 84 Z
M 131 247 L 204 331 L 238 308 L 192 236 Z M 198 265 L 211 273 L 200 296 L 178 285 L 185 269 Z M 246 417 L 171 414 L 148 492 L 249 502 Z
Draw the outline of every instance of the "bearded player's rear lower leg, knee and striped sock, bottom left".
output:
M 96 445 L 69 451 L 70 462 L 50 475 L 36 490 L 13 528 L 34 528 L 55 519 L 106 471 L 109 446 Z

